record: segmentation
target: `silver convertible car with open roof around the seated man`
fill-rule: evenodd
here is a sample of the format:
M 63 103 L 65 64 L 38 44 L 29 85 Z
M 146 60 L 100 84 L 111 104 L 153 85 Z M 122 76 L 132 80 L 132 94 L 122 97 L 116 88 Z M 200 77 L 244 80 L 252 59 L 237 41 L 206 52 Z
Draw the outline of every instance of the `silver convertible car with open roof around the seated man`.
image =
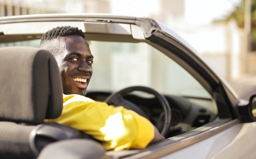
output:
M 79 27 L 95 56 L 86 96 L 132 107 L 164 140 L 143 150 L 106 151 L 80 131 L 43 123 L 62 109 L 56 61 L 39 49 L 42 34 L 58 26 Z M 0 34 L 1 158 L 256 156 L 256 96 L 239 99 L 200 53 L 157 20 L 87 13 L 6 16 Z

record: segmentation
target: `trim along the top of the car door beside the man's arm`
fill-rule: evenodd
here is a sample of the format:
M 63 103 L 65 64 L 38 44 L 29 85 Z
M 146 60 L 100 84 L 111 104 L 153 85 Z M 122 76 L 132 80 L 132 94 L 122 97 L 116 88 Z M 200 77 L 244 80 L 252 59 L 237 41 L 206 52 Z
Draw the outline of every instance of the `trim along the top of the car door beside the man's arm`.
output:
M 163 157 L 167 154 L 171 154 L 178 150 L 184 149 L 187 146 L 198 143 L 204 139 L 208 139 L 211 136 L 215 136 L 218 133 L 239 124 L 238 119 L 232 121 L 230 120 L 231 119 L 221 119 L 218 121 L 213 121 L 207 125 L 196 128 L 191 132 L 187 132 L 180 136 L 175 136 L 169 139 L 165 139 L 160 143 L 150 145 L 145 150 L 140 150 L 139 152 L 135 151 L 136 154 L 124 158 L 148 159 Z

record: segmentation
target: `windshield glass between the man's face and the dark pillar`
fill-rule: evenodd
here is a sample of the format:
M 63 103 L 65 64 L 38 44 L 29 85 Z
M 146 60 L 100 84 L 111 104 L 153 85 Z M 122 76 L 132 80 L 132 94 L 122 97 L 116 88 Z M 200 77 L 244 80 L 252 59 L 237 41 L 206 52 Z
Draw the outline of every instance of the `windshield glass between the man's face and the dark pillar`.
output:
M 90 90 L 117 91 L 144 85 L 165 94 L 210 98 L 191 74 L 146 43 L 89 44 L 95 56 Z

